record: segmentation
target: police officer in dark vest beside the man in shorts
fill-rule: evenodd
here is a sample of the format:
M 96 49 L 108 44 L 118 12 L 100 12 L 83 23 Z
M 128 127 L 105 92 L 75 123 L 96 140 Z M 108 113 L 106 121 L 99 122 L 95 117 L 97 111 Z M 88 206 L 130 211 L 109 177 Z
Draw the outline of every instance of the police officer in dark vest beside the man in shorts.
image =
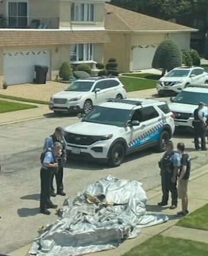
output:
M 170 209 L 177 207 L 177 175 L 180 168 L 180 154 L 173 150 L 173 142 L 168 140 L 166 142 L 166 152 L 159 161 L 161 168 L 161 185 L 162 185 L 162 201 L 158 203 L 159 206 L 168 205 L 169 191 L 172 197 L 172 204 Z

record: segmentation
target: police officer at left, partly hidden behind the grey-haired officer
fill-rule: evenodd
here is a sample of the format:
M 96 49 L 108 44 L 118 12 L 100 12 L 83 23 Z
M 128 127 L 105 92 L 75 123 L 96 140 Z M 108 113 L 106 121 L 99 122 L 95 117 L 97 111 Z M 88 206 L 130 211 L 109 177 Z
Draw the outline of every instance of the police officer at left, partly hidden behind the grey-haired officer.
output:
M 60 142 L 62 144 L 62 152 L 60 157 L 58 157 L 58 172 L 56 172 L 51 179 L 51 196 L 56 196 L 55 190 L 53 187 L 53 179 L 55 176 L 55 181 L 57 184 L 57 194 L 65 196 L 64 184 L 63 184 L 63 172 L 64 172 L 64 163 L 66 162 L 66 153 L 65 153 L 65 143 L 63 140 L 64 129 L 61 127 L 55 128 L 55 131 L 52 135 L 46 138 L 43 146 L 43 151 L 50 149 L 51 145 L 55 142 Z

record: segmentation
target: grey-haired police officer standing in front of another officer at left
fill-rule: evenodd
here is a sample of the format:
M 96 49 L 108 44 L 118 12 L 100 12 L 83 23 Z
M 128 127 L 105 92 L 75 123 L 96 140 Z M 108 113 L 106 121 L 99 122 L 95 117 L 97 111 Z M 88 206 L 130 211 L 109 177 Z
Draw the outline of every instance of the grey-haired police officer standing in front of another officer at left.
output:
M 62 145 L 59 142 L 52 144 L 42 156 L 42 167 L 40 169 L 40 213 L 49 215 L 48 208 L 56 209 L 50 200 L 51 179 L 53 173 L 58 170 L 57 157 L 61 154 Z

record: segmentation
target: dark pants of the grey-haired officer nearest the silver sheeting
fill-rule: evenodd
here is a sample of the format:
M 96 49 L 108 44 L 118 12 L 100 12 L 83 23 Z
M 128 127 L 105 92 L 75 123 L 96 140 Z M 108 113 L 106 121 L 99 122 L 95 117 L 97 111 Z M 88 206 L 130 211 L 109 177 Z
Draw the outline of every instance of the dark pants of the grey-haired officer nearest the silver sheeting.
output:
M 51 205 L 51 179 L 52 171 L 49 169 L 40 169 L 40 209 L 46 209 Z

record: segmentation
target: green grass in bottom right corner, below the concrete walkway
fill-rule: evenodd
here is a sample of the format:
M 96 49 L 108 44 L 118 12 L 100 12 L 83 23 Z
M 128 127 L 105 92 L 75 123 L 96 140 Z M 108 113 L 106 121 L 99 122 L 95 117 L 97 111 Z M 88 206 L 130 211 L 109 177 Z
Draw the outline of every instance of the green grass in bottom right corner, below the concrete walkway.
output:
M 207 256 L 206 243 L 154 236 L 123 256 Z

